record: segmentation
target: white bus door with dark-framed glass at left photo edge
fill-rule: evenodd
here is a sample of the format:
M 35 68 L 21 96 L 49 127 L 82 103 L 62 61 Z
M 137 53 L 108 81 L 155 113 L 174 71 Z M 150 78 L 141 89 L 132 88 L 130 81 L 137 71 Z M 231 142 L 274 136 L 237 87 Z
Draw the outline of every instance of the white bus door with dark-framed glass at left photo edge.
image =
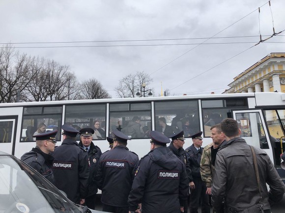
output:
M 18 116 L 0 116 L 0 151 L 14 154 Z

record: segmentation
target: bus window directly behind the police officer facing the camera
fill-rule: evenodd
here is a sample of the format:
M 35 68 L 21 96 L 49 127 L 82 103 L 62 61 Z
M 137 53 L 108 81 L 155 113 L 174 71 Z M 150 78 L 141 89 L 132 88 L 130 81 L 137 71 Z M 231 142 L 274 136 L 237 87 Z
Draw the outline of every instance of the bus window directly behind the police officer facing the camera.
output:
M 66 105 L 64 123 L 77 130 L 90 127 L 95 130 L 94 140 L 106 139 L 106 111 L 106 104 Z

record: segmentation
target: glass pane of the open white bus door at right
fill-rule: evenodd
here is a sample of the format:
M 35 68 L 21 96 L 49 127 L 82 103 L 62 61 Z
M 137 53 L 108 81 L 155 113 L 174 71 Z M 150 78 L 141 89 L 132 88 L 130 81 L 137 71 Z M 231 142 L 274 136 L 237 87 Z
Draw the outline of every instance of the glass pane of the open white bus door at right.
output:
M 246 142 L 261 149 L 269 149 L 259 113 L 237 113 L 236 121 L 241 130 L 240 136 L 245 137 Z

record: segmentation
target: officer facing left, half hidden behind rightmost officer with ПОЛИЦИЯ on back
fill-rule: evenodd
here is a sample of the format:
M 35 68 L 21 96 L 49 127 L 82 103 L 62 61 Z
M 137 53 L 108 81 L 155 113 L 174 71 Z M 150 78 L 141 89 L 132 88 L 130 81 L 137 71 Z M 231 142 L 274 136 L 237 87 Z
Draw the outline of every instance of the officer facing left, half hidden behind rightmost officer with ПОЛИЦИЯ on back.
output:
M 186 166 L 186 173 L 188 176 L 188 184 L 190 183 L 191 180 L 191 168 L 190 164 L 187 161 L 186 158 L 186 152 L 183 149 L 184 141 L 186 140 L 184 138 L 184 131 L 182 130 L 181 132 L 174 133 L 170 136 L 171 138 L 171 143 L 168 146 L 168 148 L 173 152 L 174 155 L 176 155 Z M 188 203 L 187 200 L 184 203 L 184 213 L 188 213 Z

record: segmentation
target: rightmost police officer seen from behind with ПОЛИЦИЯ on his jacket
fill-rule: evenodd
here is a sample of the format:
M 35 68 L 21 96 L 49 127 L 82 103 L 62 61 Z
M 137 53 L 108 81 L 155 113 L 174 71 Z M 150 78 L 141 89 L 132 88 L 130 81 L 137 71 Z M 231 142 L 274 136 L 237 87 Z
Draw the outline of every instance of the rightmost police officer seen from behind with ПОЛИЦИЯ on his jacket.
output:
M 129 213 L 180 213 L 189 190 L 185 164 L 166 144 L 169 138 L 151 131 L 151 151 L 142 157 L 129 195 Z

